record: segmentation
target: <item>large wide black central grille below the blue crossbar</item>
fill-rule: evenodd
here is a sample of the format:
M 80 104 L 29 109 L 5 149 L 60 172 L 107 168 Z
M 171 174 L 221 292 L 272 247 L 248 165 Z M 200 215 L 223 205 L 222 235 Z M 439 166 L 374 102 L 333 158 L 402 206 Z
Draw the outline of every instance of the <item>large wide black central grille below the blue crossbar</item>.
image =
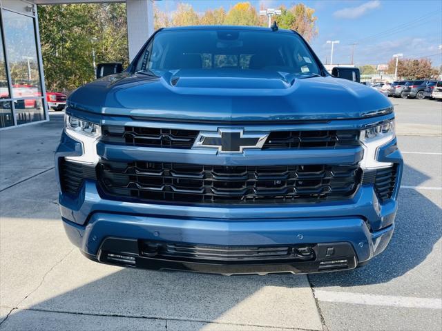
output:
M 358 165 L 230 166 L 102 161 L 98 178 L 112 196 L 189 203 L 344 199 L 361 181 Z

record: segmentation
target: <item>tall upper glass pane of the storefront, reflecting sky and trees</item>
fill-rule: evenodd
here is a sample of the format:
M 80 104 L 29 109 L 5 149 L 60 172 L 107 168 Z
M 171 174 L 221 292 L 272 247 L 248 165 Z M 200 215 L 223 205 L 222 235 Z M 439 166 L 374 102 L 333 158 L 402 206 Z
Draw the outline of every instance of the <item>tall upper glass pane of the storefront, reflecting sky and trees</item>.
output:
M 12 97 L 41 97 L 34 19 L 9 10 L 2 16 Z

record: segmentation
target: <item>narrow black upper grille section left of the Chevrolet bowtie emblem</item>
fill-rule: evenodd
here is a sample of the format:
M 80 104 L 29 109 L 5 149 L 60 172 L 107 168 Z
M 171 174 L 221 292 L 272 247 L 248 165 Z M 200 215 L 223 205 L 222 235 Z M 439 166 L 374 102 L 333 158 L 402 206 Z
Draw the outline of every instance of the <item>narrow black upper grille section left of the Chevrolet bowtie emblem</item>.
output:
M 198 136 L 195 130 L 142 128 L 136 126 L 103 126 L 102 141 L 128 146 L 187 148 Z

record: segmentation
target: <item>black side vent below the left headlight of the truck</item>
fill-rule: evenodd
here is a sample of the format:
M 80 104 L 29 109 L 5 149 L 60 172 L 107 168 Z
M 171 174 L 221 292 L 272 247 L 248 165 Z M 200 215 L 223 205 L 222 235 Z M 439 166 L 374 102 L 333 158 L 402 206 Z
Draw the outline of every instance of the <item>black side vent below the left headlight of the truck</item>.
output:
M 60 159 L 59 174 L 61 190 L 75 195 L 78 193 L 84 179 L 96 179 L 95 166 Z

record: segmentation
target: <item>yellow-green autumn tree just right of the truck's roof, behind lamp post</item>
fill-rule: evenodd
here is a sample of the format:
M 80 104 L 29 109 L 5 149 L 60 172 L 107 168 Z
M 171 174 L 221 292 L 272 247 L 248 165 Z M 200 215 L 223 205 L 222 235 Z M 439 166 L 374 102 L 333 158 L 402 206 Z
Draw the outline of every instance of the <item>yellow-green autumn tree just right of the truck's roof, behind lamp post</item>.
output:
M 316 37 L 318 28 L 315 24 L 318 18 L 314 17 L 314 9 L 305 6 L 304 3 L 298 3 L 290 9 L 280 6 L 279 9 L 281 14 L 275 17 L 275 21 L 280 28 L 295 30 L 307 41 Z

